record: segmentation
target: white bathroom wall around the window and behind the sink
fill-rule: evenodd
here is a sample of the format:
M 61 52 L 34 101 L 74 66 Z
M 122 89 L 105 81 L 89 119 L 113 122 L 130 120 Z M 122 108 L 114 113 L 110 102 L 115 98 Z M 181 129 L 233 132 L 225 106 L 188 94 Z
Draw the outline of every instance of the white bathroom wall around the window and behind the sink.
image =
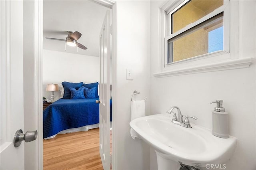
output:
M 165 1 L 150 1 L 150 113 L 166 114 L 177 105 L 182 114 L 198 119 L 192 123 L 212 128 L 214 105 L 224 100 L 230 113 L 230 135 L 237 138 L 236 152 L 226 162 L 226 170 L 256 169 L 256 69 L 255 60 L 249 68 L 156 78 L 159 71 L 158 7 Z M 232 1 L 231 1 L 232 2 Z M 254 57 L 256 51 L 256 2 L 239 1 L 237 21 L 239 56 Z M 231 42 L 231 44 L 234 42 Z M 234 55 L 234 51 L 230 52 Z M 189 142 L 189 140 L 188 140 Z M 178 163 L 174 166 L 178 166 Z M 156 154 L 150 149 L 150 170 L 157 169 Z

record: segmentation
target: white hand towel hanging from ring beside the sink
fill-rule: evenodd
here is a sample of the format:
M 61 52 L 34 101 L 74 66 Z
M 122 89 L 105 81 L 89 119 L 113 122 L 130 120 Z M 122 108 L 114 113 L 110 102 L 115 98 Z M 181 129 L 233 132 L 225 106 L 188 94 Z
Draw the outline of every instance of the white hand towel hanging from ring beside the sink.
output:
M 145 116 L 145 101 L 144 100 L 138 100 L 138 101 L 132 101 L 131 104 L 131 121 L 133 119 L 136 119 L 138 117 Z M 140 135 L 135 132 L 132 128 L 130 130 L 131 136 L 133 139 L 140 138 Z

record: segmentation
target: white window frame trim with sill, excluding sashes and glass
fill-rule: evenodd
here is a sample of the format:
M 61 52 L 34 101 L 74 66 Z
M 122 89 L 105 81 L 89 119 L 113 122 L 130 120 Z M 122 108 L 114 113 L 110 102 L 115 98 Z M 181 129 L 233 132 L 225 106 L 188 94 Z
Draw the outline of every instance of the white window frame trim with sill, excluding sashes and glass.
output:
M 153 76 L 156 78 L 169 77 L 176 75 L 186 75 L 194 73 L 204 73 L 210 71 L 220 71 L 229 69 L 247 68 L 253 61 L 251 57 L 243 57 L 239 53 L 239 2 L 230 0 L 230 53 L 226 51 L 213 52 L 211 55 L 197 56 L 190 59 L 176 61 L 175 63 L 166 64 L 165 58 L 167 50 L 165 46 L 165 37 L 168 34 L 168 18 L 167 13 L 174 10 L 184 0 L 165 1 L 158 7 L 158 53 L 155 57 L 158 58 L 158 67 L 156 67 Z M 224 42 L 225 43 L 225 42 Z

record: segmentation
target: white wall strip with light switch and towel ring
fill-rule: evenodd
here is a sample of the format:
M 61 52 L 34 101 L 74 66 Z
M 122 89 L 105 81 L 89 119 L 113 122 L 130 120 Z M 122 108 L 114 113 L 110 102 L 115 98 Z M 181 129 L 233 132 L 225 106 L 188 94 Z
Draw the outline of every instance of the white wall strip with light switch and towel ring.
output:
M 135 99 L 149 95 L 149 45 L 150 2 L 116 2 L 116 99 L 113 98 L 114 169 L 148 170 L 149 146 L 130 136 L 130 97 L 140 91 Z M 133 80 L 126 80 L 126 68 L 133 71 Z M 149 102 L 146 113 L 149 115 Z

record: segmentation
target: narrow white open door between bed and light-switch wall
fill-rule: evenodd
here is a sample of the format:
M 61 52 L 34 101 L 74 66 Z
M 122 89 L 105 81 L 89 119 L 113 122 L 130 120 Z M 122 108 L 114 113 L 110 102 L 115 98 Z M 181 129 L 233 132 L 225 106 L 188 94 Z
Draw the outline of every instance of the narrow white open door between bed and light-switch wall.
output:
M 100 157 L 104 170 L 110 169 L 110 12 L 100 32 Z

